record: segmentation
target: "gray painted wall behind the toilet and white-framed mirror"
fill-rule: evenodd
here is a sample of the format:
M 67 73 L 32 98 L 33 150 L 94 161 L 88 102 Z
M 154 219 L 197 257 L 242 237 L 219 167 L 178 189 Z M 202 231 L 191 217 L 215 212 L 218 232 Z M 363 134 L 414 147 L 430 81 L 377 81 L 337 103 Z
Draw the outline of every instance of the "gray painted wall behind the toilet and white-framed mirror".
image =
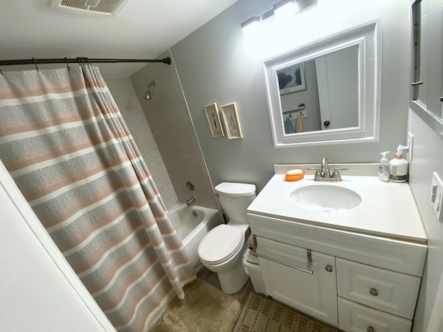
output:
M 275 0 L 240 0 L 171 48 L 213 183 L 255 183 L 260 190 L 273 175 L 276 163 L 320 163 L 323 156 L 332 163 L 376 162 L 380 151 L 394 151 L 400 142 L 405 143 L 410 63 L 408 1 L 322 1 L 296 16 L 300 29 L 294 31 L 300 33 L 287 36 L 286 48 L 308 42 L 309 36 L 318 36 L 320 30 L 333 33 L 381 17 L 381 134 L 379 142 L 374 143 L 279 149 L 271 138 L 262 73 L 262 60 L 271 56 L 270 49 L 278 48 L 266 47 L 266 43 L 278 36 L 263 35 L 264 47 L 251 50 L 240 28 L 242 21 L 269 10 L 273 3 Z M 212 102 L 237 102 L 244 138 L 211 136 L 203 107 Z

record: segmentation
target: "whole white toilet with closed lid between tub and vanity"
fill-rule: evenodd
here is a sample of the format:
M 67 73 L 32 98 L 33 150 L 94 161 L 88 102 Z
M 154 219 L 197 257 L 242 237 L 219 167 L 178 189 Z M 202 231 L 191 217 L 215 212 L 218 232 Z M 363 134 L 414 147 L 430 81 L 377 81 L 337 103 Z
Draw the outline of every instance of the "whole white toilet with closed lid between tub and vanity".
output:
M 221 291 L 234 294 L 248 281 L 242 260 L 251 233 L 246 208 L 255 199 L 255 185 L 224 182 L 215 187 L 215 192 L 229 220 L 205 235 L 198 253 L 201 263 L 217 273 Z

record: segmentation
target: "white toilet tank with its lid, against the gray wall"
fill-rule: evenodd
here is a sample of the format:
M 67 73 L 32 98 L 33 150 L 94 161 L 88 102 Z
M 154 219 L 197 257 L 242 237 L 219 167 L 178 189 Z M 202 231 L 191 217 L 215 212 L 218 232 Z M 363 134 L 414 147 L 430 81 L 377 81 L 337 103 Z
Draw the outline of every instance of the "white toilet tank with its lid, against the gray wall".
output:
M 248 223 L 246 209 L 255 199 L 255 185 L 223 182 L 215 186 L 214 189 L 229 221 Z

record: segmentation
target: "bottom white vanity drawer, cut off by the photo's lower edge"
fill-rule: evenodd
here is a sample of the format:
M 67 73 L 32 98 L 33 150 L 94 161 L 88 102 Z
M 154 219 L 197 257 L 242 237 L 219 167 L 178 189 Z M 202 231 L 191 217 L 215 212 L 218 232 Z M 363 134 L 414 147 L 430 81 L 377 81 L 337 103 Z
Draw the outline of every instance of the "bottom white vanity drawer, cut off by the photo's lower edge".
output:
M 412 321 L 338 297 L 338 327 L 347 332 L 409 332 Z

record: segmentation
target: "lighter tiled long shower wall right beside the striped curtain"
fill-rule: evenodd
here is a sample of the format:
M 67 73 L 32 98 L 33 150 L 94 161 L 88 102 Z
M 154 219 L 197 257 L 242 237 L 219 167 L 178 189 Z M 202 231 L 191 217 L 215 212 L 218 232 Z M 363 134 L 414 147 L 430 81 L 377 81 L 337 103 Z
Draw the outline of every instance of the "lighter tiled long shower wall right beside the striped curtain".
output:
M 178 202 L 177 195 L 154 136 L 152 136 L 152 131 L 147 123 L 145 114 L 143 114 L 143 109 L 138 102 L 131 79 L 107 78 L 105 81 L 116 101 L 118 109 L 120 109 L 120 113 L 122 113 L 123 119 L 125 119 L 127 127 L 129 127 L 129 131 L 131 131 L 136 141 L 138 149 L 140 149 L 143 159 L 145 159 L 154 182 L 159 188 L 166 208 L 172 208 Z

